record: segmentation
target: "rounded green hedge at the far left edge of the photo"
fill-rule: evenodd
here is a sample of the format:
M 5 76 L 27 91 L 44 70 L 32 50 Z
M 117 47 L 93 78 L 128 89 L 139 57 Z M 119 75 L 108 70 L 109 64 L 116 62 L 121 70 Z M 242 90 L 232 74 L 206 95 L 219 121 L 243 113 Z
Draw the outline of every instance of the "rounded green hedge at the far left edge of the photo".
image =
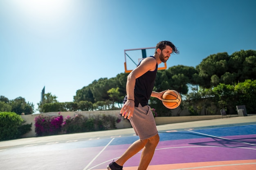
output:
M 0 112 L 0 140 L 20 138 L 31 131 L 31 124 L 23 124 L 24 120 L 14 112 Z

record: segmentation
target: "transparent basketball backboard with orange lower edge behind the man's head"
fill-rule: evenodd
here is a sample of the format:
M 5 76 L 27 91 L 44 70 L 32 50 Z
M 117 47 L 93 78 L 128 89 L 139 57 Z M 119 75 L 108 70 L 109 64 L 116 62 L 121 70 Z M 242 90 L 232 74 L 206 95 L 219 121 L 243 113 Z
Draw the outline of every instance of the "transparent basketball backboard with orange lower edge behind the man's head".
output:
M 148 48 L 136 48 L 124 50 L 124 70 L 126 73 L 132 72 L 139 62 L 149 56 L 153 56 L 155 53 L 155 47 Z M 164 70 L 167 68 L 166 63 L 161 63 L 158 65 L 158 70 Z

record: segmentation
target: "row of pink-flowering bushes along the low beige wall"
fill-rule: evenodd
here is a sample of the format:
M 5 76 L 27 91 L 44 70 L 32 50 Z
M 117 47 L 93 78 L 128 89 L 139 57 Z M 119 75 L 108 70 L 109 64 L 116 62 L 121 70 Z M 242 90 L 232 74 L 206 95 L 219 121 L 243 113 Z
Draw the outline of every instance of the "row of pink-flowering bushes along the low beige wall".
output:
M 35 131 L 37 136 L 57 135 L 59 133 L 81 133 L 90 131 L 102 131 L 116 129 L 115 124 L 121 121 L 120 118 L 111 115 L 83 116 L 42 116 L 35 118 Z

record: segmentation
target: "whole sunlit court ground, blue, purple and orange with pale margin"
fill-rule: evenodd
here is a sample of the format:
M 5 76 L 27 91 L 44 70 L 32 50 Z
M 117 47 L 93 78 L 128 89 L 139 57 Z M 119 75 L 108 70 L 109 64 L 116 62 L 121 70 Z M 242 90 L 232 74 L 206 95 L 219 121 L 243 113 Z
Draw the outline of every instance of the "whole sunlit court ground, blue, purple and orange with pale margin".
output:
M 147 170 L 255 170 L 256 115 L 157 126 Z M 150 130 L 150 129 L 149 129 Z M 0 142 L 1 170 L 106 170 L 139 139 L 132 128 Z M 137 170 L 141 151 L 124 164 Z

